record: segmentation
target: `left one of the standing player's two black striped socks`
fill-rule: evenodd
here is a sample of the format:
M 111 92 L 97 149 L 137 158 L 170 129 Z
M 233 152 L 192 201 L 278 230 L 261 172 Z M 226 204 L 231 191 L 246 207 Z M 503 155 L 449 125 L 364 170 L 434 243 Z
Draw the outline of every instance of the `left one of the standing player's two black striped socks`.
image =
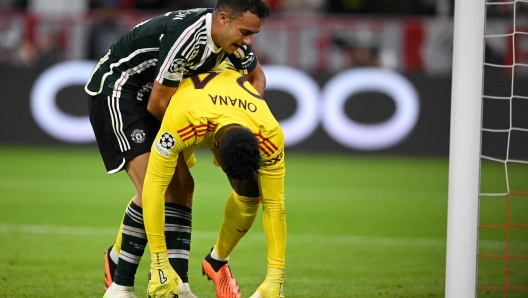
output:
M 133 286 L 139 261 L 145 251 L 147 234 L 143 223 L 143 208 L 131 202 L 123 218 L 123 240 L 114 282 L 121 286 Z

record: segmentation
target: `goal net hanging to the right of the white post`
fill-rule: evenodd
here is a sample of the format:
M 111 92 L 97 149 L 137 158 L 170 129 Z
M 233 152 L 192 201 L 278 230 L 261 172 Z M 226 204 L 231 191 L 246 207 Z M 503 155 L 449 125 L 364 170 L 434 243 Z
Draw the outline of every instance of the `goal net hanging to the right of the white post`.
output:
M 528 1 L 486 2 L 477 297 L 528 297 Z

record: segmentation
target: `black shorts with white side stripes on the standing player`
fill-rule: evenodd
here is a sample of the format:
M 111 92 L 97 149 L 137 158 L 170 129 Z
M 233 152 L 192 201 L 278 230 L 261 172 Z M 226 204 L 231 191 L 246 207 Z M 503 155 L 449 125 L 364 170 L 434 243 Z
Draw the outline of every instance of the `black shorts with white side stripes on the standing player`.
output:
M 136 99 L 90 96 L 88 110 L 108 174 L 123 170 L 127 161 L 149 152 L 161 125 L 147 111 L 147 102 Z

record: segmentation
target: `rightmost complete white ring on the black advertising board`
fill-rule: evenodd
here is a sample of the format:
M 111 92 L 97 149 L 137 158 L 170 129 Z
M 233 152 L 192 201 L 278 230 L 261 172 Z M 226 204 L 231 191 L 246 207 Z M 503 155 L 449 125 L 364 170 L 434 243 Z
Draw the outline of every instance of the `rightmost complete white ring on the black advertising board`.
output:
M 362 124 L 348 118 L 345 102 L 360 92 L 388 95 L 396 105 L 391 118 Z M 380 150 L 401 142 L 413 130 L 420 112 L 414 86 L 402 75 L 379 68 L 359 68 L 339 73 L 324 87 L 322 124 L 338 143 L 360 150 Z

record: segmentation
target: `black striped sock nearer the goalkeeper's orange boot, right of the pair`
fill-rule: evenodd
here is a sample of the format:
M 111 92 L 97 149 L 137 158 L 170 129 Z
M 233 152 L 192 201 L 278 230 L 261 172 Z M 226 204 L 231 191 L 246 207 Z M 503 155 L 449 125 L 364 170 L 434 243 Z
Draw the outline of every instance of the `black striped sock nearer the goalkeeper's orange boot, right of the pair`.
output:
M 165 203 L 165 239 L 169 262 L 184 283 L 189 282 L 189 251 L 191 250 L 192 209 Z

